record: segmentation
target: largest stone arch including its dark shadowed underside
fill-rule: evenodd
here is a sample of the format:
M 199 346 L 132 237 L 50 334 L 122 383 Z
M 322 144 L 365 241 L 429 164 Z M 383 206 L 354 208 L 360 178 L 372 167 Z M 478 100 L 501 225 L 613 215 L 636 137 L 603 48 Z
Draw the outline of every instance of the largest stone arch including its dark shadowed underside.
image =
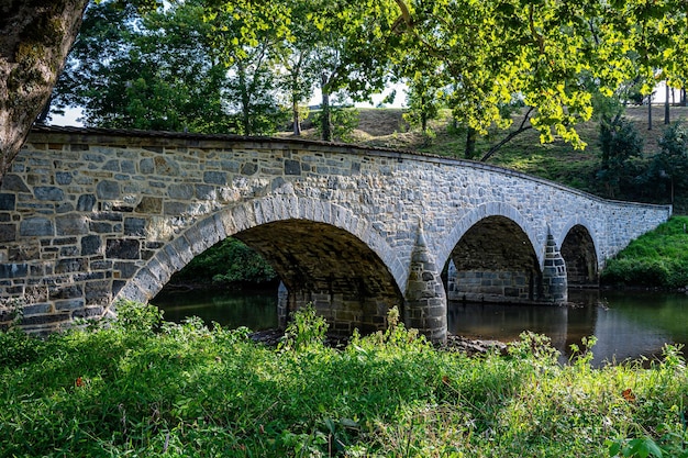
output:
M 118 299 L 147 302 L 191 259 L 226 237 L 256 249 L 291 292 L 289 310 L 312 302 L 342 332 L 379 328 L 402 303 L 408 272 L 370 225 L 325 200 L 268 197 L 206 217 L 178 234 L 134 275 Z M 399 278 L 395 278 L 395 270 Z M 404 276 L 406 275 L 406 276 Z M 115 286 L 115 289 L 120 286 Z

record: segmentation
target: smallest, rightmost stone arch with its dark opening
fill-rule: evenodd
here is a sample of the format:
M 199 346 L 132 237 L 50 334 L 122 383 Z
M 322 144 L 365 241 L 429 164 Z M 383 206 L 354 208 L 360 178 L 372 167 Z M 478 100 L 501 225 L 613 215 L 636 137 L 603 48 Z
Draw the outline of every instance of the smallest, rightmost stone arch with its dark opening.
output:
M 588 227 L 585 219 L 572 219 L 559 237 L 559 253 L 566 262 L 569 286 L 598 283 L 599 248 Z

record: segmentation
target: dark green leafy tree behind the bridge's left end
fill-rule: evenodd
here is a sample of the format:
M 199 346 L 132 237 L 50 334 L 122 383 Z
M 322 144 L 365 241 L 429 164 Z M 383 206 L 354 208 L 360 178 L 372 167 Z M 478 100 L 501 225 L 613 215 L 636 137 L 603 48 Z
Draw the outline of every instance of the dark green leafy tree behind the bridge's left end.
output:
M 226 70 L 209 46 L 199 1 L 140 14 L 89 5 L 55 105 L 82 107 L 86 125 L 226 132 Z

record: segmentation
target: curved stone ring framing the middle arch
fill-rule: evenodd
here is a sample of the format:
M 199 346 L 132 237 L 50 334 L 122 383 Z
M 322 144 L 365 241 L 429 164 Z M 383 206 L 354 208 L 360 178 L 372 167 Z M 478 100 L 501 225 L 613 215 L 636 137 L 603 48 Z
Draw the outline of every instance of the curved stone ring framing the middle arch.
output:
M 521 212 L 519 212 L 518 209 L 502 202 L 484 203 L 463 216 L 454 226 L 450 235 L 444 239 L 444 243 L 440 246 L 437 261 L 443 262 L 442 265 L 446 264 L 452 252 L 458 242 L 464 237 L 466 232 L 474 227 L 478 222 L 489 216 L 502 216 L 507 220 L 511 220 L 521 231 L 523 231 L 533 247 L 540 269 L 542 270 L 545 258 L 545 241 L 539 239 L 535 231 L 531 227 L 528 220 L 521 214 Z

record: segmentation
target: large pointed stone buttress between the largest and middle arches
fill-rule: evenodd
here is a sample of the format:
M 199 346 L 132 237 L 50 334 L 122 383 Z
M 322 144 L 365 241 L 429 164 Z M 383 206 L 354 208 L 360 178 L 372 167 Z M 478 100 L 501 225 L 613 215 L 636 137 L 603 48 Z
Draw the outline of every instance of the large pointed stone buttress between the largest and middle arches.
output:
M 440 270 L 432 258 L 422 228 L 419 227 L 411 254 L 409 282 L 402 314 L 407 327 L 415 328 L 433 343 L 445 343 L 446 294 Z

